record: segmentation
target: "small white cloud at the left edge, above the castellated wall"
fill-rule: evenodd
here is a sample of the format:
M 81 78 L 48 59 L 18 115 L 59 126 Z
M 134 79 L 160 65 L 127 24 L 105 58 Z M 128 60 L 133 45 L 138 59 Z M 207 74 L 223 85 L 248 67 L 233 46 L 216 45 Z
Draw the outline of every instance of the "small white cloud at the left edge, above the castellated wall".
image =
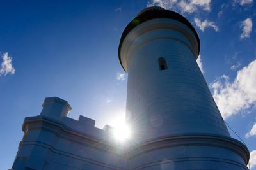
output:
M 8 73 L 14 74 L 15 68 L 12 66 L 12 57 L 8 55 L 8 52 L 3 53 L 3 55 L 1 55 L 1 58 L 3 61 L 1 62 L 0 76 L 6 76 Z

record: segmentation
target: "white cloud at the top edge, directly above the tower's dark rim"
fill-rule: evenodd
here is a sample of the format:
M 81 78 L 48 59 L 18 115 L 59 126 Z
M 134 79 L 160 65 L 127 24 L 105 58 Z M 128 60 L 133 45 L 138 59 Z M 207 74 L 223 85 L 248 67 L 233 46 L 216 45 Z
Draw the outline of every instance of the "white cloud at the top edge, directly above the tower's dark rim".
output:
M 182 13 L 193 13 L 200 9 L 211 10 L 211 0 L 152 0 L 147 6 L 161 6 L 168 10 L 180 10 Z

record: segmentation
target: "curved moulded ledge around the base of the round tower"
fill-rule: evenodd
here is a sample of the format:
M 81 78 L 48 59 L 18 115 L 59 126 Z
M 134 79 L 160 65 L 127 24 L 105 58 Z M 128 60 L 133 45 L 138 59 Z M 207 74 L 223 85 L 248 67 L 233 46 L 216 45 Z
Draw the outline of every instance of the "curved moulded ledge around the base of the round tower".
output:
M 129 150 L 129 155 L 132 155 L 131 158 L 133 159 L 143 153 L 179 146 L 213 146 L 217 148 L 224 148 L 240 155 L 245 164 L 248 164 L 250 158 L 250 152 L 246 145 L 237 139 L 216 134 L 200 133 L 177 134 L 150 139 L 133 146 L 131 150 Z

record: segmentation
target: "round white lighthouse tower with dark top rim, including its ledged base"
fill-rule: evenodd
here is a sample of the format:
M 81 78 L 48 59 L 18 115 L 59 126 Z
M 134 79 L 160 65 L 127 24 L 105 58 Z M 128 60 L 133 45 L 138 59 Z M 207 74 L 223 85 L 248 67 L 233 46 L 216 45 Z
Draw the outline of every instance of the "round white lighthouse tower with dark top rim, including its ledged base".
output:
M 141 11 L 125 28 L 119 59 L 128 73 L 131 169 L 247 169 L 196 59 L 200 40 L 178 13 Z

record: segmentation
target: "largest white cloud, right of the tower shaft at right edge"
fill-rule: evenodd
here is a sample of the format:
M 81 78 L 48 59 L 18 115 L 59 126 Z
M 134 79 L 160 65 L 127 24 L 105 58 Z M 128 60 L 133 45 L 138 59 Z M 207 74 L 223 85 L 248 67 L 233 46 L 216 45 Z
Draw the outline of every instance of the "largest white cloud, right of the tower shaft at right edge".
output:
M 256 60 L 237 71 L 236 79 L 230 82 L 226 75 L 210 84 L 213 97 L 223 118 L 228 118 L 239 111 L 256 104 Z

